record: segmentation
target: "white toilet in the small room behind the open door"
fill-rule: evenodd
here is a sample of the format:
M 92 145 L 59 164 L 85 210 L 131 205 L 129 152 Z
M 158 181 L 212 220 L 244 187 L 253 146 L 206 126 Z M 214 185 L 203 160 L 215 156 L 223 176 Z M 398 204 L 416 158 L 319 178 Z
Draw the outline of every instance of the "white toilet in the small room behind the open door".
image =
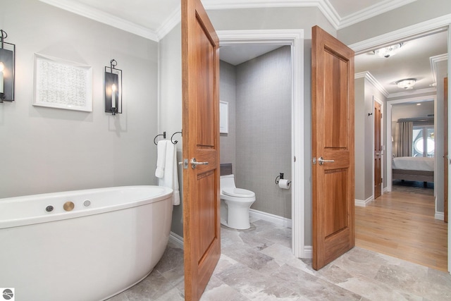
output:
M 255 193 L 236 188 L 233 174 L 221 176 L 221 223 L 224 226 L 249 229 L 249 208 L 254 202 Z

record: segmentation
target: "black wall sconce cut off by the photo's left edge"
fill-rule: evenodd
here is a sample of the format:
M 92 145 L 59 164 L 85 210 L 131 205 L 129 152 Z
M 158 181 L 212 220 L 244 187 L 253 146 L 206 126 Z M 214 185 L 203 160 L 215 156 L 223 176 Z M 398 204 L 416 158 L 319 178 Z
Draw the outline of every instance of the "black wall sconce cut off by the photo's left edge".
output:
M 6 31 L 0 30 L 0 103 L 14 101 L 16 45 L 5 42 L 6 37 Z

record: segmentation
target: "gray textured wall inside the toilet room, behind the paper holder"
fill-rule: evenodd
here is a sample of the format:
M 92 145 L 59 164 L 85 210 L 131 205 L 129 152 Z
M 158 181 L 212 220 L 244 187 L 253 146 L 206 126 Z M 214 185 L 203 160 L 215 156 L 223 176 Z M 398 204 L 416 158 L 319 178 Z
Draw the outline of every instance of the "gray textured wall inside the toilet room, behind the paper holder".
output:
M 235 184 L 252 190 L 252 209 L 291 219 L 291 51 L 289 46 L 237 66 Z

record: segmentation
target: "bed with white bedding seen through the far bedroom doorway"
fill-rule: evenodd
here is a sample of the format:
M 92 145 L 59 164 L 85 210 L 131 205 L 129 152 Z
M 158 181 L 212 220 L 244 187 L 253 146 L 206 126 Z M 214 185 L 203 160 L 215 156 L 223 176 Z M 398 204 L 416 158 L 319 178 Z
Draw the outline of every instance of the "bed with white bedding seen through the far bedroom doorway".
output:
M 434 158 L 400 156 L 393 158 L 393 180 L 434 181 Z

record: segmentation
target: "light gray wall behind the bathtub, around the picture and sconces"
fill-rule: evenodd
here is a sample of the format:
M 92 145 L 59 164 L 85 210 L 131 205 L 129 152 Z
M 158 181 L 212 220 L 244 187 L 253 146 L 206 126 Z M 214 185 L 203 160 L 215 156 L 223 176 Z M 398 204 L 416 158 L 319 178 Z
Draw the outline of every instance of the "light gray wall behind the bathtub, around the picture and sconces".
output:
M 2 1 L 0 23 L 16 44 L 16 102 L 0 104 L 0 197 L 156 183 L 158 44 L 37 0 Z M 92 66 L 92 112 L 32 106 L 35 53 Z M 114 117 L 103 100 L 111 59 L 123 70 Z

